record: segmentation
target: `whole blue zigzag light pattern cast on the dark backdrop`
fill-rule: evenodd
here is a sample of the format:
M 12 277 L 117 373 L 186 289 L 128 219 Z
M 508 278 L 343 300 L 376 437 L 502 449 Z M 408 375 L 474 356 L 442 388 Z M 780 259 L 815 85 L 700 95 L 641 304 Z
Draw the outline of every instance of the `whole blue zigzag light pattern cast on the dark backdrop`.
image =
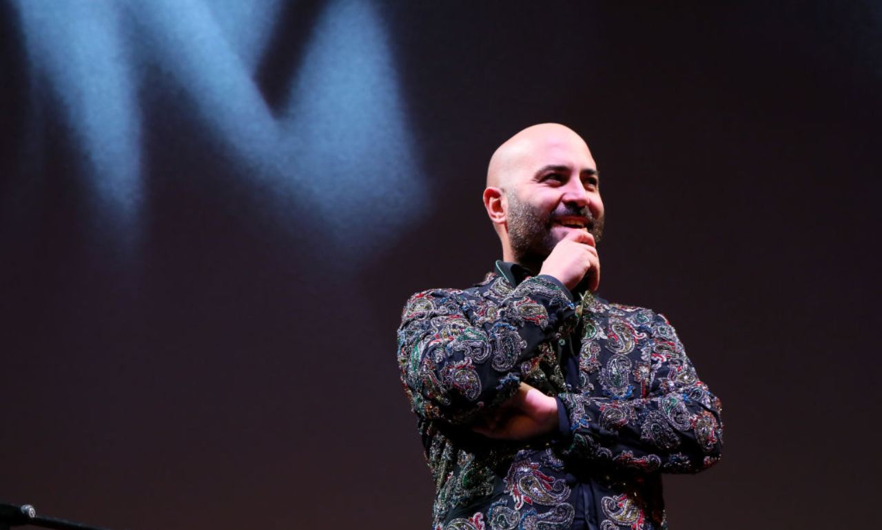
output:
M 331 243 L 340 258 L 391 244 L 417 214 L 425 184 L 371 2 L 16 6 L 31 86 L 49 87 L 64 109 L 88 163 L 78 175 L 90 184 L 96 216 L 113 220 L 117 243 L 138 241 L 151 207 L 142 192 L 152 175 L 142 170 L 139 98 L 156 93 L 185 101 L 235 173 L 272 190 L 267 207 L 282 228 Z M 303 46 L 265 59 L 265 35 L 297 16 L 303 34 L 292 41 Z M 273 65 L 288 71 L 267 70 Z

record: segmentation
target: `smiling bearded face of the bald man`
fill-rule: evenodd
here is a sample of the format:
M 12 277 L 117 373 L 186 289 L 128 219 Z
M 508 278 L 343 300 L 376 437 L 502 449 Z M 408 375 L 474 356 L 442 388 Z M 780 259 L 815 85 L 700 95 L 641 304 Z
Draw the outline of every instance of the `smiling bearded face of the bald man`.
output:
M 531 146 L 512 175 L 506 224 L 520 263 L 541 263 L 572 230 L 599 242 L 603 203 L 594 159 L 581 138 L 561 134 Z

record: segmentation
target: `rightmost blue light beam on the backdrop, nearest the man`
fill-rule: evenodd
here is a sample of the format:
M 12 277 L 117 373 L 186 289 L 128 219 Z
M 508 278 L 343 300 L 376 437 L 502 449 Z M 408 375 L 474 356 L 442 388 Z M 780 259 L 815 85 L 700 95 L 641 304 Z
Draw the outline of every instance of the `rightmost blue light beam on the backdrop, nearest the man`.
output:
M 289 175 L 341 249 L 395 241 L 428 194 L 383 20 L 338 0 L 318 19 L 284 116 Z

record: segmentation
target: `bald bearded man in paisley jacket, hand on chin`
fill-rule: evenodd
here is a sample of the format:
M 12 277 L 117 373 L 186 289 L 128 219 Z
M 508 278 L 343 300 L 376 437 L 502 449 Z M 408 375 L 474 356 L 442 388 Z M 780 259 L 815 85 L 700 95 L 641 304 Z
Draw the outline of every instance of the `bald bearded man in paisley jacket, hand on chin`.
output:
M 398 359 L 436 529 L 663 528 L 660 474 L 719 459 L 719 399 L 674 328 L 593 294 L 599 178 L 570 129 L 520 131 L 483 194 L 504 261 L 407 301 Z

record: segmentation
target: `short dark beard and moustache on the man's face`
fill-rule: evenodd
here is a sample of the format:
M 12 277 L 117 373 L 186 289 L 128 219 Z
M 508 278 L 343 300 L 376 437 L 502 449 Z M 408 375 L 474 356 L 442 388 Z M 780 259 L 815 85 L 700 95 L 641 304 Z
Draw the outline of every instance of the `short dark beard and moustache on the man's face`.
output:
M 555 219 L 585 217 L 588 232 L 594 235 L 594 244 L 601 242 L 604 216 L 595 219 L 587 206 L 561 205 L 554 212 L 542 213 L 529 203 L 521 202 L 514 193 L 508 194 L 508 206 L 508 241 L 515 261 L 533 272 L 539 272 L 542 262 L 560 241 L 551 234 Z

